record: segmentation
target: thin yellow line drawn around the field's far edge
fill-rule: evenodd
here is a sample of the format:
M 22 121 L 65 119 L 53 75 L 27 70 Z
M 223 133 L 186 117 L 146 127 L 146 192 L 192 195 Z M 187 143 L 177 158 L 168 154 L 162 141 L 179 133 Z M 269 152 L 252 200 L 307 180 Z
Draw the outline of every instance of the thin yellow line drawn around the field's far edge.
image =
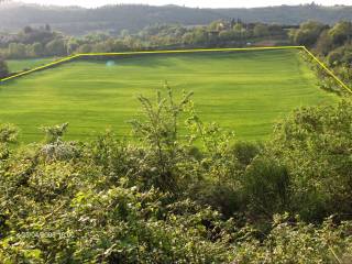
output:
M 207 53 L 207 52 L 240 52 L 240 51 L 267 51 L 267 50 L 292 50 L 299 48 L 305 51 L 310 57 L 314 58 L 316 63 L 318 63 L 342 88 L 346 89 L 350 94 L 352 94 L 352 89 L 349 88 L 338 76 L 336 76 L 323 63 L 321 63 L 311 52 L 308 51 L 305 46 L 271 46 L 271 47 L 231 47 L 231 48 L 196 48 L 196 50 L 179 50 L 179 51 L 147 51 L 147 52 L 124 52 L 124 53 L 80 53 L 76 55 L 72 55 L 59 61 L 55 61 L 53 63 L 22 72 L 20 74 L 0 79 L 0 82 L 11 80 L 23 75 L 28 75 L 34 72 L 38 72 L 45 68 L 50 68 L 52 66 L 69 62 L 79 57 L 88 57 L 88 56 L 123 56 L 123 55 L 142 55 L 142 54 L 177 54 L 177 53 Z

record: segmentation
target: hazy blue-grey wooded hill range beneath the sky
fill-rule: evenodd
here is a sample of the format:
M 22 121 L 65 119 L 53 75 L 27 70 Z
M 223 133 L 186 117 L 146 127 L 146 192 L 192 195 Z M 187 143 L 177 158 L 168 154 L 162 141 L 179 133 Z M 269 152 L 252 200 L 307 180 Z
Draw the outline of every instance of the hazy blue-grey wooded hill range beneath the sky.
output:
M 47 23 L 53 29 L 68 34 L 85 34 L 89 31 L 120 32 L 123 29 L 135 31 L 155 23 L 198 25 L 231 18 L 241 19 L 244 22 L 299 24 L 306 20 L 318 20 L 332 24 L 339 20 L 352 20 L 352 6 L 305 4 L 255 9 L 195 9 L 177 6 L 120 4 L 84 9 L 23 3 L 0 4 L 0 30 L 2 31 Z

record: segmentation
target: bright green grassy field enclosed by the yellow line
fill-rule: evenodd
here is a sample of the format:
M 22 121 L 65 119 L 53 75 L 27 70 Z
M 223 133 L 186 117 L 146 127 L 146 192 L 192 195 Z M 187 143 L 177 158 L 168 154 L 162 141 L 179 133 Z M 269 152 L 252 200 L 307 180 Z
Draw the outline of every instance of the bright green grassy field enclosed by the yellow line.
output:
M 297 107 L 337 100 L 317 87 L 295 50 L 150 55 L 73 62 L 6 82 L 0 122 L 20 127 L 26 142 L 41 139 L 41 125 L 63 122 L 69 122 L 69 139 L 107 128 L 130 135 L 127 121 L 139 113 L 136 96 L 154 96 L 165 80 L 175 94 L 193 90 L 202 120 L 242 140 L 265 139 Z

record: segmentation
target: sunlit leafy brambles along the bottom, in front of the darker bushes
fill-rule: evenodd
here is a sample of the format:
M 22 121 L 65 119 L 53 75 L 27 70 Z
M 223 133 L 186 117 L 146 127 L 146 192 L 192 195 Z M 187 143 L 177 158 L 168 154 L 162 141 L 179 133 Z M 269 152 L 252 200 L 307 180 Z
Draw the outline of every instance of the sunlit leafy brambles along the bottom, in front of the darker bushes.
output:
M 262 234 L 206 206 L 112 180 L 81 150 L 57 161 L 20 151 L 1 162 L 4 263 L 349 263 L 350 222 L 275 217 Z M 12 160 L 13 158 L 13 160 Z M 270 221 L 268 221 L 270 222 Z M 293 261 L 294 260 L 294 261 Z M 341 262 L 339 262 L 340 260 Z

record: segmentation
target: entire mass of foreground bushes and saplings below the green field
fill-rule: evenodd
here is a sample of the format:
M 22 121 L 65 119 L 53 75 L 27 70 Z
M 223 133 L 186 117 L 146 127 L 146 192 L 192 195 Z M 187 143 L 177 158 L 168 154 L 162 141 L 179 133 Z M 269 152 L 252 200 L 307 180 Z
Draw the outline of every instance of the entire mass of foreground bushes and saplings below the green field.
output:
M 295 111 L 265 144 L 202 123 L 191 95 L 140 101 L 139 143 L 68 142 L 63 124 L 13 147 L 1 127 L 4 263 L 351 262 L 350 100 Z

